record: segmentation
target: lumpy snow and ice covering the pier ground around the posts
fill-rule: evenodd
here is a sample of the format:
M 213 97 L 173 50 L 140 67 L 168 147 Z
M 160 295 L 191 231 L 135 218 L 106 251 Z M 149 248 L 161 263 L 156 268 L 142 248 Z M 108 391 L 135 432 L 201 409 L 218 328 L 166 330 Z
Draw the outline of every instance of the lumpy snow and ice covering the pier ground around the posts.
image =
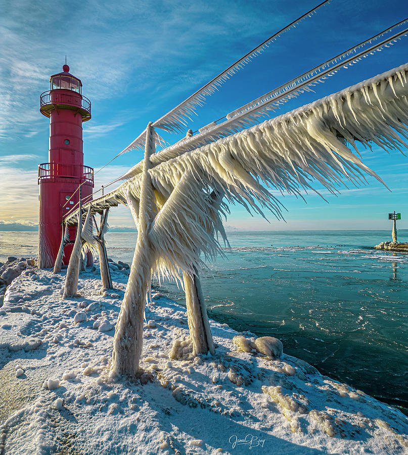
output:
M 61 297 L 65 270 L 27 266 L 7 288 L 0 453 L 407 453 L 403 414 L 295 357 L 260 354 L 248 332 L 233 342 L 237 332 L 211 321 L 216 354 L 191 359 L 186 309 L 160 293 L 144 373 L 110 380 L 128 275 L 111 268 L 115 290 L 102 296 L 98 270 L 80 274 L 78 298 Z

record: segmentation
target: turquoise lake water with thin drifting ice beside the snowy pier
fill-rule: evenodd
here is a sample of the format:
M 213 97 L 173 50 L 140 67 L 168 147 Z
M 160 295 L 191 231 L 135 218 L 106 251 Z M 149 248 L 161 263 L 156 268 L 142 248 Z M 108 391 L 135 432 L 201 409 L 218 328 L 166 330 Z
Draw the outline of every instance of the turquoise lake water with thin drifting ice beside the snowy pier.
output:
M 228 237 L 231 250 L 201 274 L 210 317 L 277 336 L 286 353 L 407 412 L 408 254 L 372 248 L 390 232 Z M 110 257 L 131 262 L 136 234 L 107 240 Z M 408 231 L 398 240 L 408 241 Z M 36 233 L 0 233 L 0 260 L 35 254 L 36 242 Z M 174 283 L 162 287 L 184 303 Z

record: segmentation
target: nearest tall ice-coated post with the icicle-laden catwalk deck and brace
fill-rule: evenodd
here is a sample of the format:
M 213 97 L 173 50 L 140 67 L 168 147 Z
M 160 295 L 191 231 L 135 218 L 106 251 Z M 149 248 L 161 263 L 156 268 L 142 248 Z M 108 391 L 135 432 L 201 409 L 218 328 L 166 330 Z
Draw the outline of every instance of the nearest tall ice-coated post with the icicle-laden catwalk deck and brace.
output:
M 384 150 L 406 147 L 402 140 L 408 132 L 406 72 L 404 65 L 188 152 L 176 146 L 171 152 L 153 154 L 157 134 L 149 125 L 142 174 L 113 194 L 129 203 L 139 232 L 115 334 L 115 374 L 133 375 L 138 370 L 152 271 L 180 279 L 181 270 L 193 277 L 203 265 L 200 254 L 207 260 L 222 254 L 215 239 L 219 232 L 226 241 L 221 216 L 228 206 L 222 198 L 263 217 L 268 209 L 282 218 L 283 206 L 270 188 L 301 197 L 301 188 L 312 190 L 312 180 L 331 193 L 344 181 L 364 183 L 365 174 L 382 181 L 349 147 L 357 154 L 355 141 L 375 143 Z M 225 134 L 239 122 L 232 119 Z M 163 157 L 167 161 L 153 167 Z M 192 308 L 196 311 L 199 305 Z M 197 313 L 191 319 L 193 346 L 200 345 L 205 330 L 205 324 L 194 330 L 201 316 Z

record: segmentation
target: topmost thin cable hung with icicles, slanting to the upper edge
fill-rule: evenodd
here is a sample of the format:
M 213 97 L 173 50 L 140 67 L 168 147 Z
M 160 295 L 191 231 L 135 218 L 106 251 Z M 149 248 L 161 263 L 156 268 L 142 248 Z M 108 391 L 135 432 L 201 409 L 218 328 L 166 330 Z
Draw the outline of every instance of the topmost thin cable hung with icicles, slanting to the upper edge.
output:
M 273 42 L 279 39 L 285 32 L 296 27 L 300 22 L 302 22 L 307 17 L 314 15 L 321 7 L 328 5 L 332 0 L 325 0 L 315 8 L 311 9 L 307 13 L 303 14 L 293 22 L 291 22 L 286 27 L 282 28 L 278 32 L 274 33 L 272 36 L 267 38 L 252 51 L 248 52 L 244 57 L 237 60 L 231 66 L 222 71 L 218 76 L 211 79 L 203 87 L 201 87 L 197 92 L 187 98 L 185 101 L 180 103 L 167 114 L 163 115 L 160 119 L 156 120 L 153 123 L 154 127 L 164 129 L 166 131 L 183 131 L 185 125 L 187 124 L 187 119 L 191 120 L 190 116 L 195 114 L 197 107 L 201 107 L 205 104 L 205 98 L 214 94 L 219 87 L 228 79 L 230 79 L 234 74 L 236 74 L 240 69 L 245 65 L 250 63 L 256 56 L 260 55 L 266 48 L 270 46 Z M 126 153 L 130 150 L 140 149 L 144 150 L 145 147 L 145 136 L 146 130 L 144 130 L 139 136 L 132 141 L 125 149 L 123 149 L 119 155 Z M 119 156 L 118 155 L 118 156 Z

